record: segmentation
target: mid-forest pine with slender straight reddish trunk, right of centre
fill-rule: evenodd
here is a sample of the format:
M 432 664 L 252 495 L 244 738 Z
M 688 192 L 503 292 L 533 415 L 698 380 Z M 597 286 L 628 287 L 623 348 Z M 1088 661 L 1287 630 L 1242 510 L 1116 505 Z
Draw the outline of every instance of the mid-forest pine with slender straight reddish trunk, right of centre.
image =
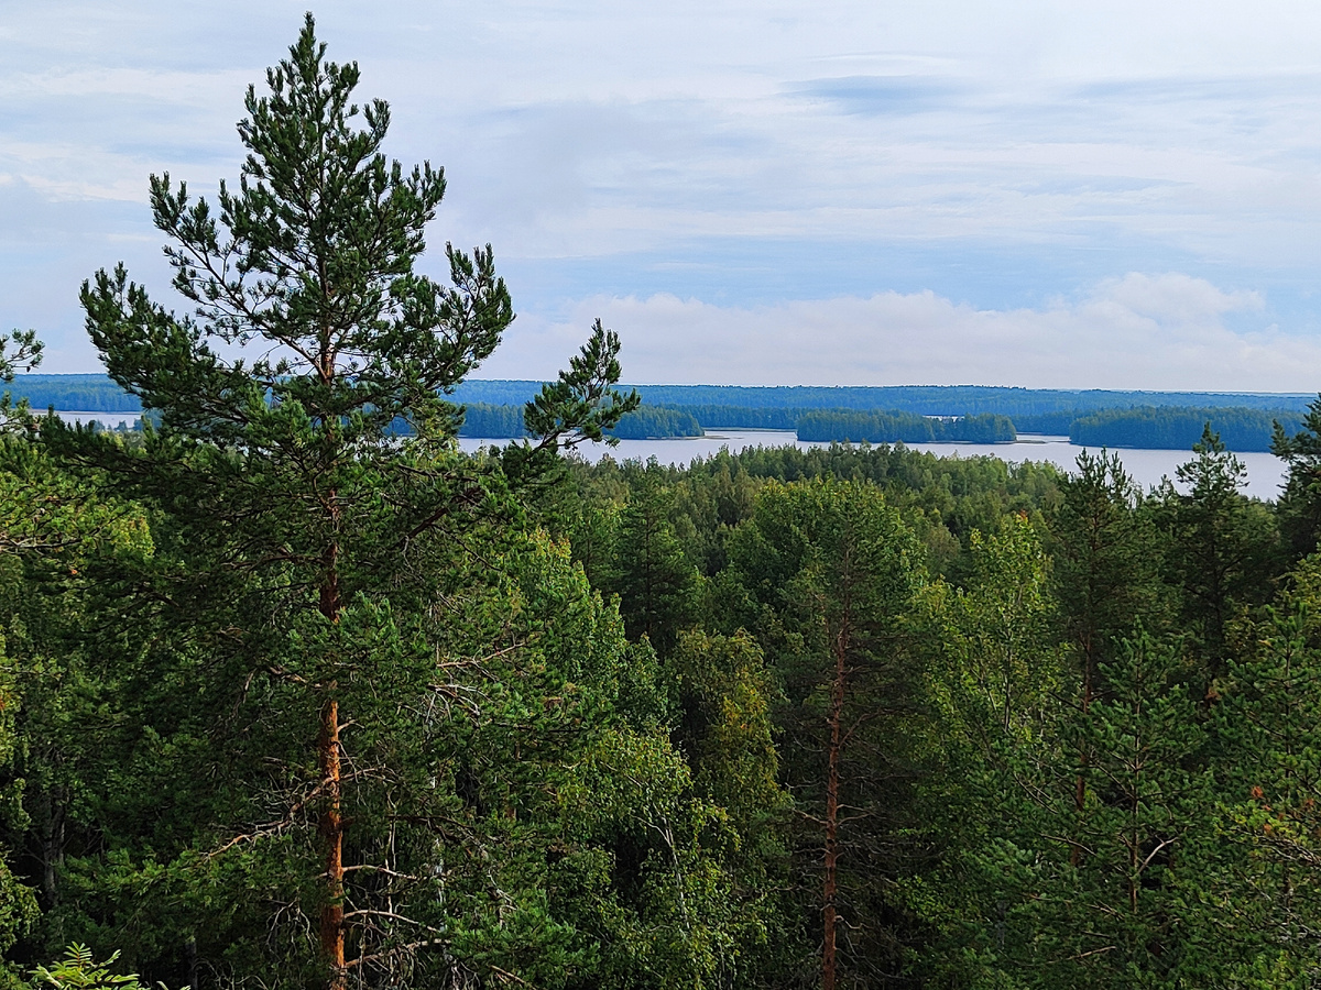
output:
M 785 685 L 783 775 L 804 896 L 820 906 L 822 987 L 884 986 L 908 937 L 894 883 L 914 869 L 921 675 L 905 614 L 917 543 L 881 491 L 769 483 L 731 562 Z M 727 589 L 728 590 L 728 589 Z

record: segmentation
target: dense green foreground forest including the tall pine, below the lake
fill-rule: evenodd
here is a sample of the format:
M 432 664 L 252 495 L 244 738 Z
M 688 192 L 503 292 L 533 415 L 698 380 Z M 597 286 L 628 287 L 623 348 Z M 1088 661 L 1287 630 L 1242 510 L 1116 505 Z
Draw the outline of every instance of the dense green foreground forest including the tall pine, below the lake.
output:
M 0 986 L 1321 982 L 1321 399 L 1279 503 L 1211 428 L 589 465 L 597 322 L 466 455 L 513 302 L 357 82 L 309 17 L 152 180 L 186 317 L 83 285 L 143 430 L 5 407 Z

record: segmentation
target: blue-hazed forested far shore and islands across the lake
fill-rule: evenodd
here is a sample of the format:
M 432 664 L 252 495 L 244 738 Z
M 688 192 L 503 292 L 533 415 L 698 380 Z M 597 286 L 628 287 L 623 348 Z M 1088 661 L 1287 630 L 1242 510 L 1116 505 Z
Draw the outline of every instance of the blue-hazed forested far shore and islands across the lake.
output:
M 460 436 L 523 436 L 530 380 L 465 381 Z M 1312 396 L 1232 392 L 1108 392 L 991 385 L 748 387 L 638 385 L 645 405 L 624 418 L 626 440 L 696 437 L 704 429 L 797 430 L 801 440 L 877 444 L 1000 442 L 1016 432 L 1067 434 L 1086 446 L 1188 449 L 1207 421 L 1230 450 L 1268 450 L 1272 422 L 1299 429 Z M 141 405 L 106 375 L 20 375 L 9 391 L 36 411 L 136 413 Z M 884 412 L 882 412 L 884 411 Z M 958 417 L 931 420 L 926 417 Z

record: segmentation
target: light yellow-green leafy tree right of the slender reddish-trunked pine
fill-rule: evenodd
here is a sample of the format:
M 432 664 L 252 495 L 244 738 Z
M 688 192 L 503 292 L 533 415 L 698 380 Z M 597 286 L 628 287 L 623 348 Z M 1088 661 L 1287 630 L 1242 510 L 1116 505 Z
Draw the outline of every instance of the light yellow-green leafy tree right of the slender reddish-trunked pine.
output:
M 1061 717 L 1063 651 L 1050 558 L 1026 519 L 972 535 L 962 587 L 934 583 L 922 609 L 939 770 L 918 803 L 939 850 L 905 878 L 909 909 L 931 932 L 917 973 L 931 985 L 1018 986 L 1007 954 L 1011 904 L 1030 890 L 1042 759 Z

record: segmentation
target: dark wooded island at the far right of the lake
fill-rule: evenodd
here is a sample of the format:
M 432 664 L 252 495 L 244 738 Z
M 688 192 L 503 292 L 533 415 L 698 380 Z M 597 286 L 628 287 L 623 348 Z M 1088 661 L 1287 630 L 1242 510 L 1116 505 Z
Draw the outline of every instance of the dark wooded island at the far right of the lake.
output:
M 1303 414 L 1291 409 L 1209 409 L 1159 408 L 1106 409 L 1074 420 L 1069 440 L 1090 447 L 1145 447 L 1186 450 L 1202 436 L 1210 422 L 1230 450 L 1250 453 L 1271 449 L 1275 421 L 1293 434 L 1303 425 Z

